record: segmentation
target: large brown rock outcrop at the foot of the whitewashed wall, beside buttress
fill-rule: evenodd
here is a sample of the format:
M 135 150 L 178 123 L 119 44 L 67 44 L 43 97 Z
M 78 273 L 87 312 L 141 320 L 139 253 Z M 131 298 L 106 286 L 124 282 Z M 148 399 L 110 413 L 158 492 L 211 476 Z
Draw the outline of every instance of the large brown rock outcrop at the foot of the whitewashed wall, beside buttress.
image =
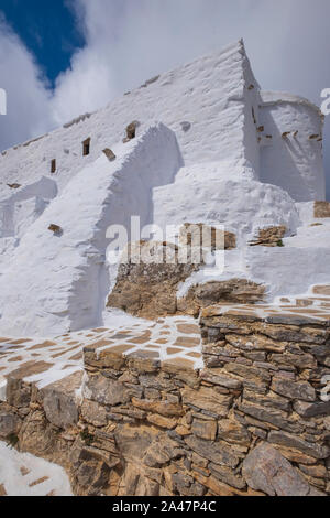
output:
M 175 314 L 177 287 L 200 268 L 201 259 L 182 263 L 180 250 L 166 242 L 141 242 L 140 246 L 141 255 L 134 244 L 128 261 L 120 265 L 107 306 L 147 319 Z M 190 252 L 188 255 L 191 257 Z

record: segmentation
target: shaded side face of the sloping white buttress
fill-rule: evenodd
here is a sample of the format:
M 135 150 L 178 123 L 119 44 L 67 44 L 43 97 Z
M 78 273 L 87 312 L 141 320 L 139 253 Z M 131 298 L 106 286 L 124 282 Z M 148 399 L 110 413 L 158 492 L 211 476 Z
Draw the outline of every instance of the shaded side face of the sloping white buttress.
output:
M 128 144 L 130 145 L 130 144 Z M 108 234 L 111 226 L 127 229 L 128 241 L 136 240 L 132 234 L 131 218 L 140 217 L 141 229 L 154 222 L 153 188 L 173 184 L 176 173 L 184 166 L 184 159 L 175 133 L 163 123 L 148 128 L 133 143 L 133 149 L 124 152 L 124 161 L 118 158 L 112 182 L 105 196 L 103 211 L 92 238 L 94 250 L 86 253 L 87 261 L 79 268 L 79 278 L 74 281 L 70 290 L 69 306 L 74 309 L 72 331 L 94 325 L 103 325 L 102 313 L 116 281 L 117 268 L 107 263 L 107 250 L 117 234 Z M 116 161 L 112 161 L 116 168 Z M 96 180 L 97 181 L 97 180 Z M 105 185 L 106 187 L 106 185 Z M 110 187 L 110 188 L 109 188 Z M 91 187 L 92 188 L 92 187 Z M 138 239 L 140 239 L 140 234 Z M 95 250 L 95 248 L 97 250 Z M 89 295 L 89 310 L 81 306 Z M 90 311 L 90 303 L 95 312 Z M 92 314 L 94 313 L 94 314 Z M 80 315 L 85 314 L 81 323 Z M 91 316 L 92 322 L 89 322 Z

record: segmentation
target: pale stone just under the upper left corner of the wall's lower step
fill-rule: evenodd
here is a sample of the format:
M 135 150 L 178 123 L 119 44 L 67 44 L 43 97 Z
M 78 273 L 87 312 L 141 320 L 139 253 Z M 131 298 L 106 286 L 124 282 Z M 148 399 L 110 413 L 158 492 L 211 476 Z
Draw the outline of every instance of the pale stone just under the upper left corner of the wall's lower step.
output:
M 130 400 L 129 390 L 122 384 L 101 375 L 89 376 L 85 391 L 90 400 L 100 404 L 116 406 Z

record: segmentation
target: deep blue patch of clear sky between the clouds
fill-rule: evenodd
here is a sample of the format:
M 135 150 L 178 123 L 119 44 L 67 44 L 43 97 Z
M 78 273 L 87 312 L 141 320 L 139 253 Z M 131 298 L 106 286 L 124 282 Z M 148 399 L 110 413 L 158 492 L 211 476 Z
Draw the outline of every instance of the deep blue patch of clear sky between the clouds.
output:
M 54 86 L 58 74 L 70 66 L 75 51 L 85 44 L 70 3 L 63 0 L 0 0 L 0 10 Z

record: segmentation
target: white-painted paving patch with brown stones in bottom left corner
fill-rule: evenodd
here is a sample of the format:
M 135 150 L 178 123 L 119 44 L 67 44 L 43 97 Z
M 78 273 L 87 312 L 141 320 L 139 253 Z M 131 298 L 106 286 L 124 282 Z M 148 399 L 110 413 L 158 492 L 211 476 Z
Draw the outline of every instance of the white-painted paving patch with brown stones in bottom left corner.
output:
M 72 496 L 65 471 L 0 442 L 1 496 Z

